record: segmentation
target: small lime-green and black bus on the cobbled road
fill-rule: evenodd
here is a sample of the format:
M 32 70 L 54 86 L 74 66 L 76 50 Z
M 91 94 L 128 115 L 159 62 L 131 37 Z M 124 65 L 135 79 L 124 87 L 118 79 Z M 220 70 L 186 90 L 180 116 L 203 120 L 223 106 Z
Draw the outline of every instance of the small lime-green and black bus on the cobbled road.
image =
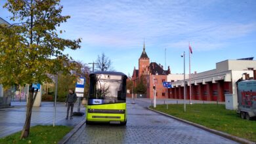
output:
M 127 122 L 126 80 L 127 76 L 114 71 L 97 71 L 90 74 L 86 123 Z

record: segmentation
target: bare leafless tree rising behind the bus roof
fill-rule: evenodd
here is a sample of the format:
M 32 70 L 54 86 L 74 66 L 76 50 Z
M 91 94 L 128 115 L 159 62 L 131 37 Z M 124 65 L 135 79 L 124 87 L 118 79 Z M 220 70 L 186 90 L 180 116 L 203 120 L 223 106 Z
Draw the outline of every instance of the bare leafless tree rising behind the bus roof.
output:
M 98 55 L 98 58 L 96 60 L 96 68 L 100 71 L 111 71 L 111 60 L 102 52 L 101 56 Z

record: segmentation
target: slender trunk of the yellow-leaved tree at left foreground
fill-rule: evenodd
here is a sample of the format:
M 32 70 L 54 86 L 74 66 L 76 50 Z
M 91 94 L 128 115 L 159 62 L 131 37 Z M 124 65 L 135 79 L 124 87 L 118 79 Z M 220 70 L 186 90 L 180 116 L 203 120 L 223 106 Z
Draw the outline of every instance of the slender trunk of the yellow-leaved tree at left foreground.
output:
M 34 88 L 32 88 L 32 84 L 30 85 L 30 90 L 32 90 L 32 91 L 28 95 L 26 120 L 25 120 L 25 124 L 23 126 L 22 134 L 20 135 L 20 139 L 26 138 L 26 137 L 28 137 L 28 135 L 30 135 L 30 122 L 31 122 L 31 116 L 32 116 L 33 102 L 35 101 L 35 98 L 37 96 L 37 92 L 35 92 L 35 96 L 33 96 Z

